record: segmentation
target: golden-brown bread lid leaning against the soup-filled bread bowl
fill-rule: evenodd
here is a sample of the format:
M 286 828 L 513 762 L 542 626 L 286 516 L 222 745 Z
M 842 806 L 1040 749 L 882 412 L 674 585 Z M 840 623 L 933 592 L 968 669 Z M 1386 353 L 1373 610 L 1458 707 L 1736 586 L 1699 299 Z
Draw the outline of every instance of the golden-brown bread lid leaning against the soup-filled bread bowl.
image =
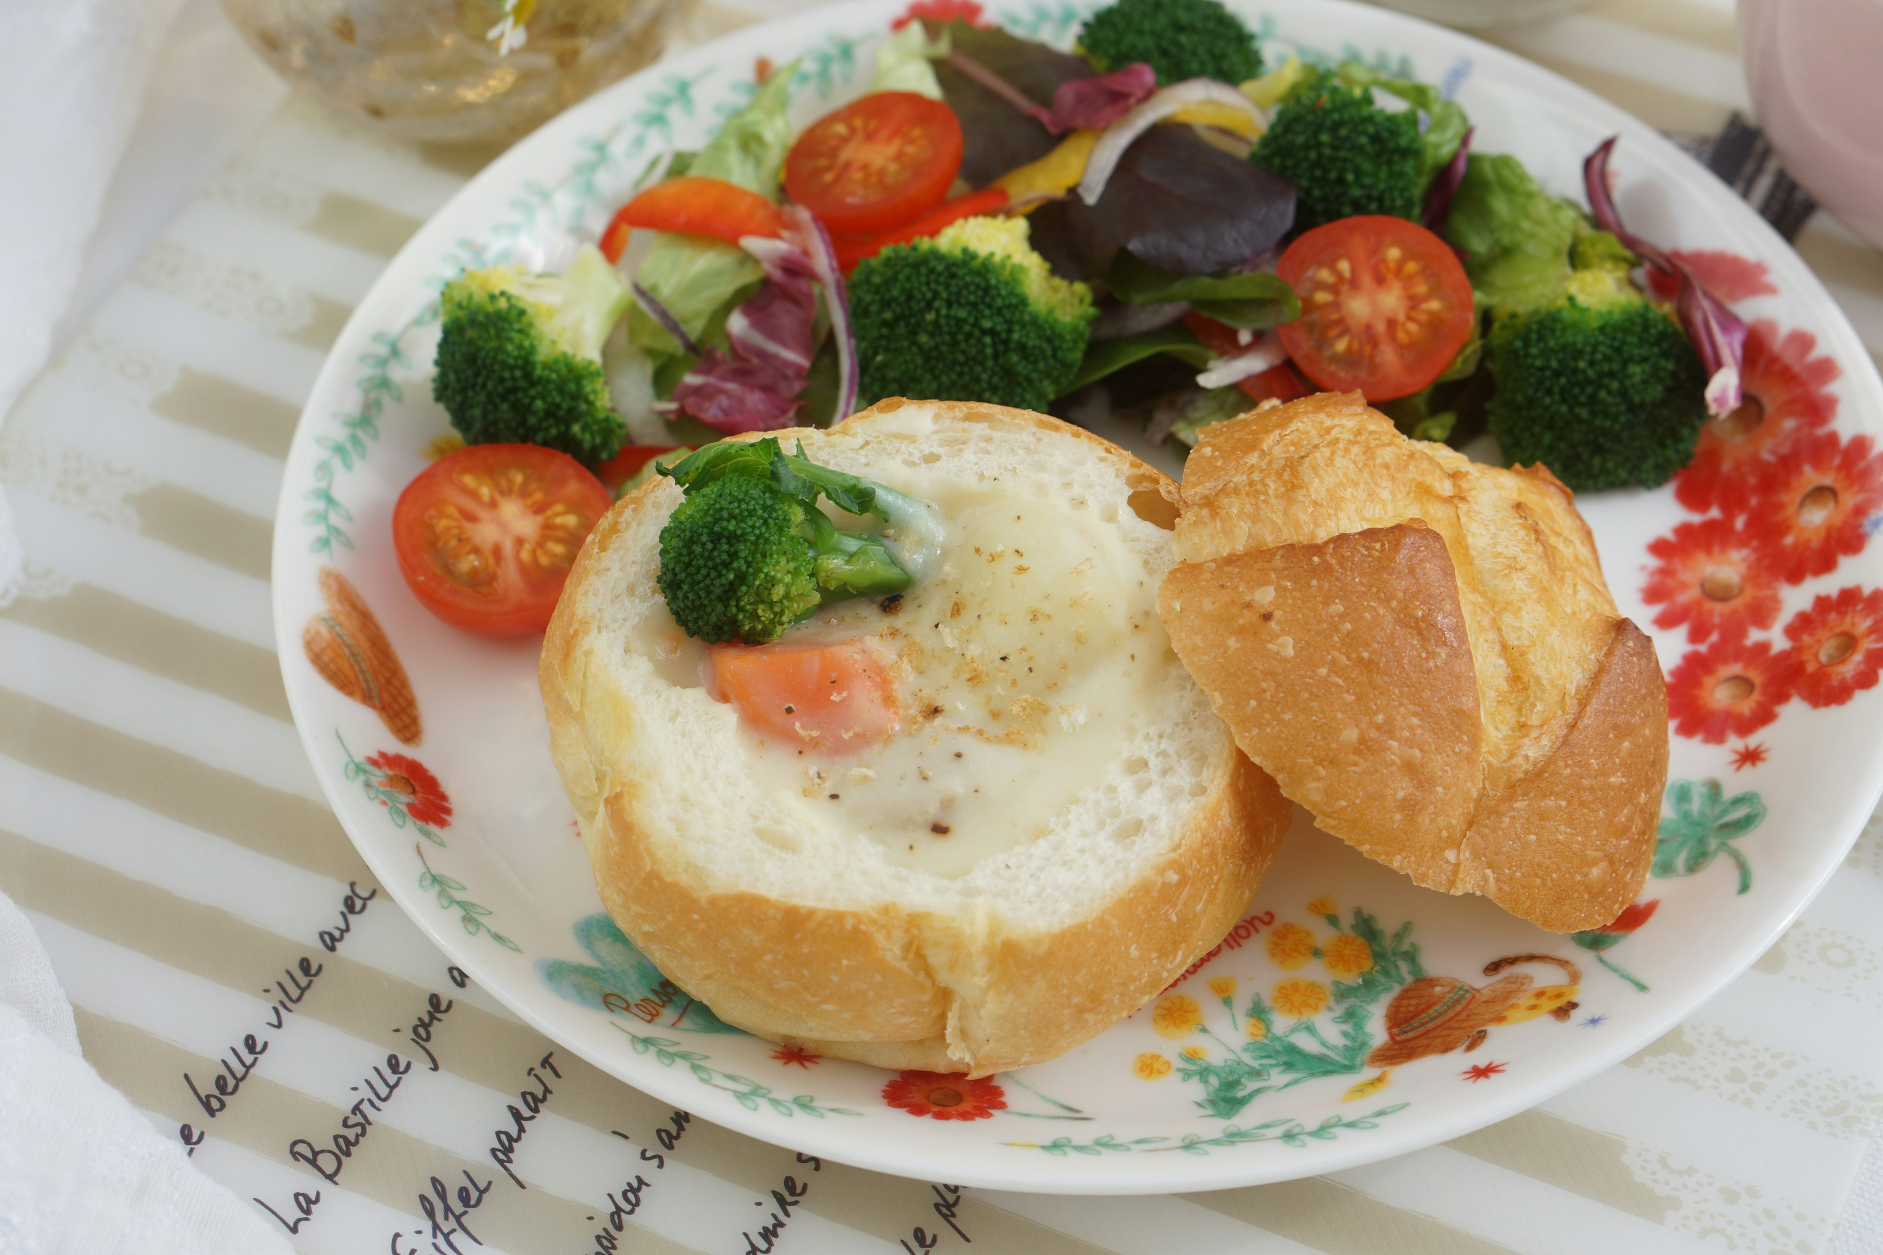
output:
M 1322 393 L 1207 427 L 1179 504 L 1171 643 L 1320 828 L 1555 931 L 1634 899 L 1666 692 L 1555 476 Z

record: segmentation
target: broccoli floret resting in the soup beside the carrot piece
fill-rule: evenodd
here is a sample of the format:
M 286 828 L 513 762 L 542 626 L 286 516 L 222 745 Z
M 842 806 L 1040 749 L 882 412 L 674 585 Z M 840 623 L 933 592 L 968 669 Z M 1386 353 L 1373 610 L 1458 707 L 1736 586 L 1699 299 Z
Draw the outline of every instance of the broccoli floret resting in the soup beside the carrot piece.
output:
M 908 589 L 940 549 L 940 516 L 874 480 L 819 467 L 778 440 L 710 444 L 659 467 L 685 489 L 661 529 L 661 595 L 687 636 L 763 645 L 825 602 Z M 817 497 L 876 516 L 844 532 Z

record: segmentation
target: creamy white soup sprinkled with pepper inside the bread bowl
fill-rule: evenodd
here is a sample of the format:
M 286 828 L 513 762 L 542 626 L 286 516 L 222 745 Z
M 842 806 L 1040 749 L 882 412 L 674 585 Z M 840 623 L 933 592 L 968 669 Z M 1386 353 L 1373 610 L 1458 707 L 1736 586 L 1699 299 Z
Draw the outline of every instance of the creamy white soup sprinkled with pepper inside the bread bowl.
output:
M 825 606 L 770 647 L 862 643 L 893 681 L 894 730 L 859 747 L 742 721 L 740 749 L 751 779 L 810 824 L 960 877 L 1103 781 L 1158 719 L 1169 640 L 1156 580 L 1096 504 L 1056 484 L 962 484 L 940 467 L 877 478 L 942 510 L 928 578 L 893 602 Z M 668 681 L 714 685 L 708 649 L 665 610 L 636 636 Z

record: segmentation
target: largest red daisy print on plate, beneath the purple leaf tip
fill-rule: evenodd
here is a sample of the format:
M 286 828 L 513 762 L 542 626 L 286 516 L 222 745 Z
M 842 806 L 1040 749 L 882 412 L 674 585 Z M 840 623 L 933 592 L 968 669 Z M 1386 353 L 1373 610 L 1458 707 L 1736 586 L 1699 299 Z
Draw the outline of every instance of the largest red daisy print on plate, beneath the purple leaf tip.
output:
M 1779 335 L 1770 318 L 1747 327 L 1740 367 L 1746 399 L 1700 427 L 1693 461 L 1674 478 L 1680 504 L 1695 514 L 1714 506 L 1727 516 L 1744 514 L 1764 457 L 1800 431 L 1817 431 L 1836 418 L 1838 399 L 1828 388 L 1842 371 L 1830 357 L 1813 357 L 1815 348 L 1817 337 L 1810 331 Z

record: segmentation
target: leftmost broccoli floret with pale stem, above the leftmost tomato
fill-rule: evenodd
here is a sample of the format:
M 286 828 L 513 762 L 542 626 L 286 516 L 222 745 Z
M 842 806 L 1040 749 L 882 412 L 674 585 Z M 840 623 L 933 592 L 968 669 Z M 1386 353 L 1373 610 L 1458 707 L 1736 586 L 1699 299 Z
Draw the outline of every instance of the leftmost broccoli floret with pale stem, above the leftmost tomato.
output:
M 510 265 L 465 271 L 439 297 L 431 395 L 471 444 L 542 444 L 603 463 L 621 448 L 601 346 L 627 310 L 627 284 L 587 246 L 561 275 Z

